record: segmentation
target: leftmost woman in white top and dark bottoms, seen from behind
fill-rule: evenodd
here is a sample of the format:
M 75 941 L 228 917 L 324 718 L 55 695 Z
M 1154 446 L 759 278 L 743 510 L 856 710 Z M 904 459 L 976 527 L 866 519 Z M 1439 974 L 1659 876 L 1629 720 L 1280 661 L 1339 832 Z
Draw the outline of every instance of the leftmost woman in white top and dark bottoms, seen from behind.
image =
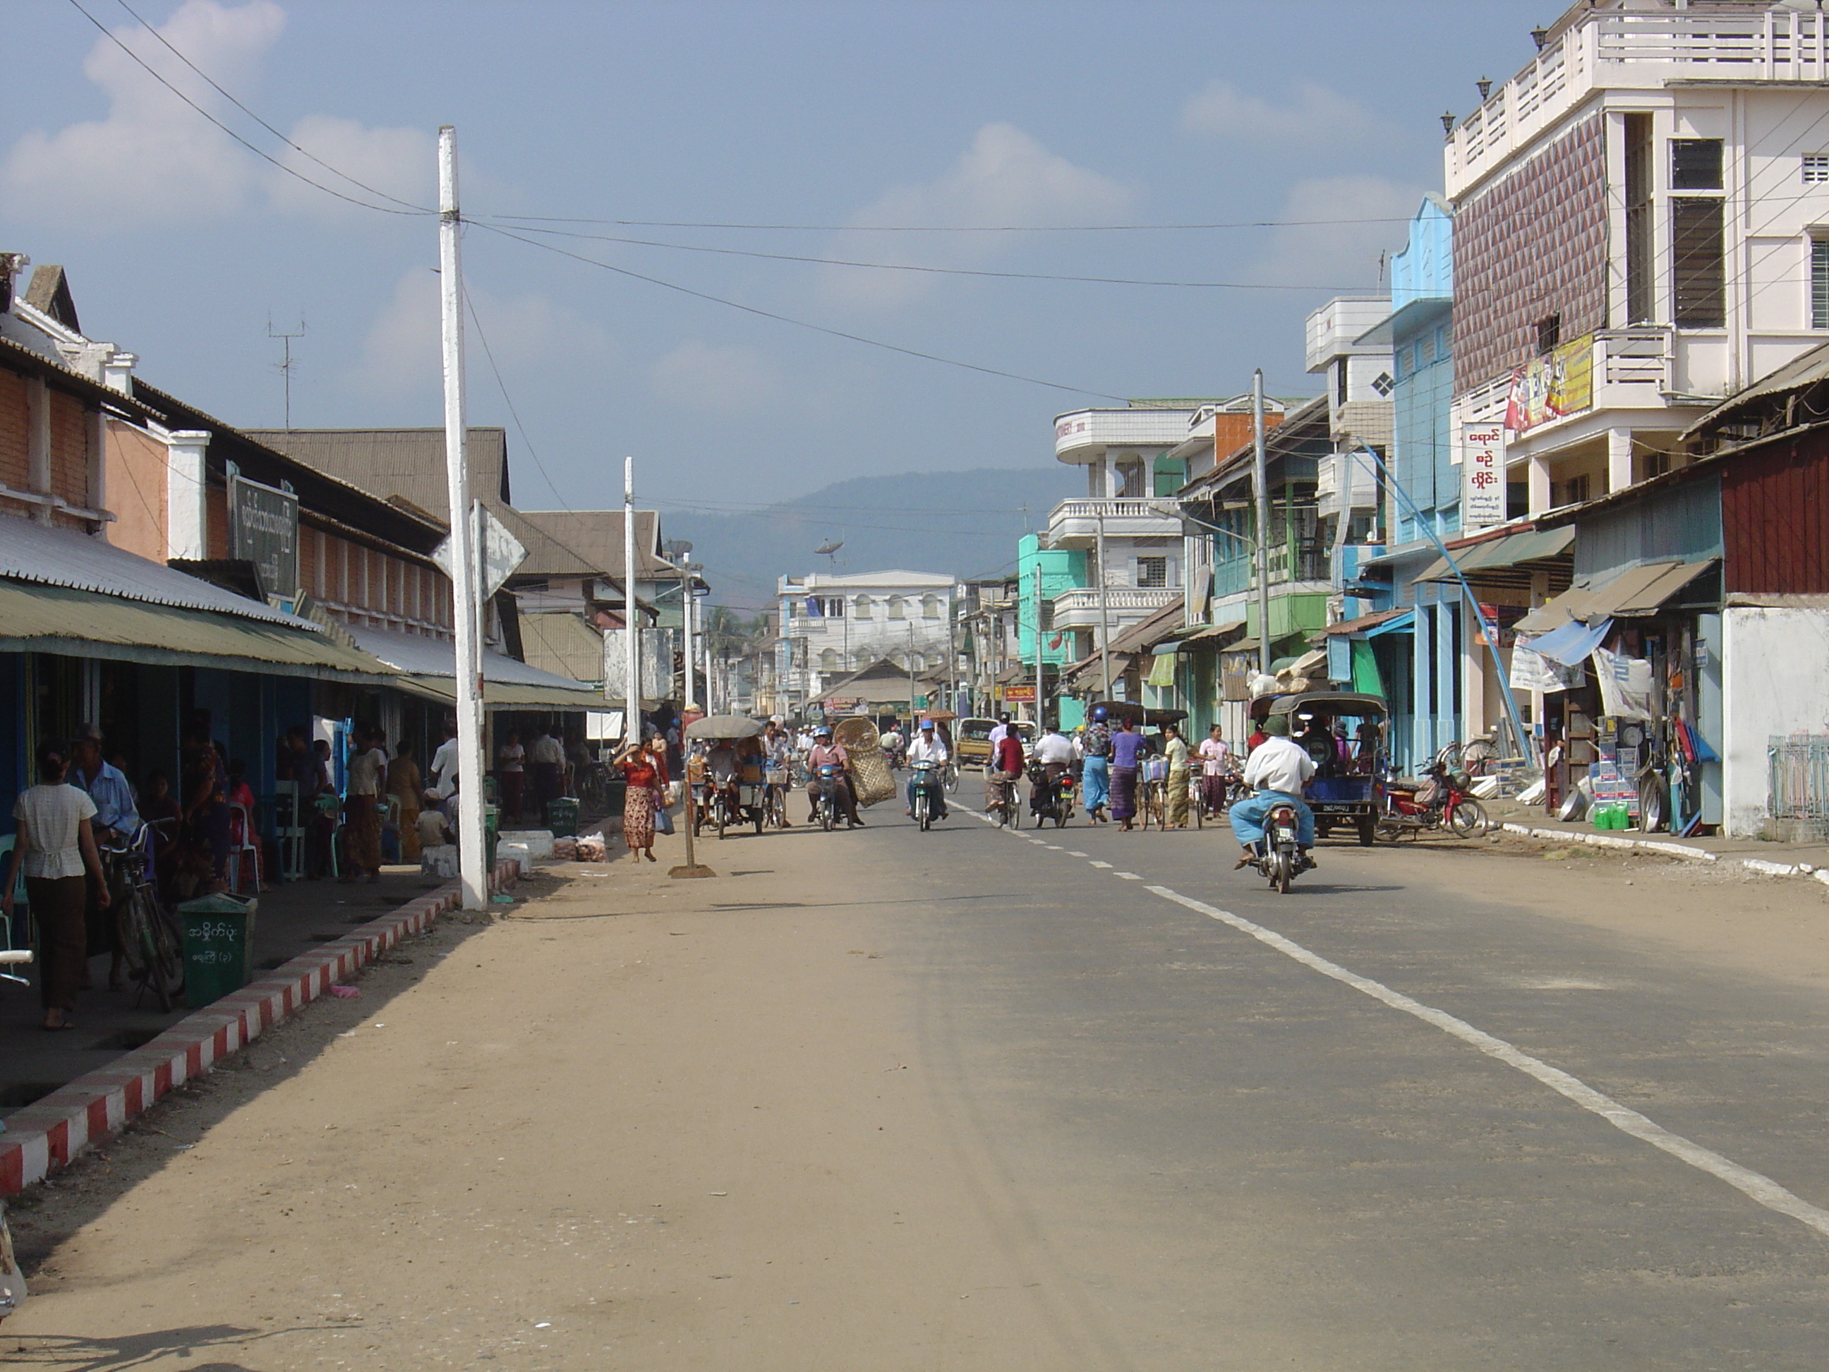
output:
M 70 1012 L 77 1008 L 77 990 L 88 970 L 88 906 L 90 882 L 95 882 L 95 902 L 108 909 L 112 896 L 102 880 L 102 858 L 95 851 L 95 801 L 88 792 L 64 785 L 70 770 L 70 748 L 62 743 L 40 743 L 38 785 L 22 792 L 13 803 L 18 838 L 13 843 L 13 862 L 7 863 L 5 896 L 0 913 L 13 918 L 13 891 L 20 867 L 26 869 L 26 898 L 38 918 L 38 999 L 44 1004 L 44 1028 L 75 1028 Z

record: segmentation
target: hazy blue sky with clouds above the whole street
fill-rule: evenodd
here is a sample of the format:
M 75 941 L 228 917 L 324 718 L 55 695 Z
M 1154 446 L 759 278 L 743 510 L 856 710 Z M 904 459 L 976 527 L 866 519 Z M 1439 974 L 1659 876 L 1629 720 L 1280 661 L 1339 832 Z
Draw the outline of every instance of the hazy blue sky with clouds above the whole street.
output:
M 1302 318 L 1377 293 L 1439 115 L 1555 11 L 11 0 L 0 249 L 62 263 L 90 337 L 232 424 L 282 423 L 269 333 L 300 327 L 294 426 L 441 424 L 410 207 L 448 123 L 468 413 L 508 426 L 518 505 L 620 503 L 624 454 L 662 510 L 1044 466 L 1086 404 L 1255 366 L 1313 393 Z

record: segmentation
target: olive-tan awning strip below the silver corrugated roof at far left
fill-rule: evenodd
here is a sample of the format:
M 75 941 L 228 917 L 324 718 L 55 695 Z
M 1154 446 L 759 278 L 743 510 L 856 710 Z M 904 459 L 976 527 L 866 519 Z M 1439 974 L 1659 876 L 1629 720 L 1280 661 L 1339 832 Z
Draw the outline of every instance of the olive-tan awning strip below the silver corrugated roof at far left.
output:
M 353 677 L 368 682 L 393 677 L 386 664 L 333 642 L 305 620 L 262 624 L 203 609 L 16 580 L 0 582 L 0 651 L 241 671 L 263 668 L 280 675 Z

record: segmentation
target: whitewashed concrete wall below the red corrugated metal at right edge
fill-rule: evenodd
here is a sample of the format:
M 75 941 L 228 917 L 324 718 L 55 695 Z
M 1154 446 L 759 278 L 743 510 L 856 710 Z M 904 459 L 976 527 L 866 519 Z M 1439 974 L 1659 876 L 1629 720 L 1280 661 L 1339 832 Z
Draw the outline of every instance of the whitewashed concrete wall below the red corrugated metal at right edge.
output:
M 1774 734 L 1829 734 L 1829 609 L 1721 613 L 1727 832 L 1765 827 L 1765 746 Z

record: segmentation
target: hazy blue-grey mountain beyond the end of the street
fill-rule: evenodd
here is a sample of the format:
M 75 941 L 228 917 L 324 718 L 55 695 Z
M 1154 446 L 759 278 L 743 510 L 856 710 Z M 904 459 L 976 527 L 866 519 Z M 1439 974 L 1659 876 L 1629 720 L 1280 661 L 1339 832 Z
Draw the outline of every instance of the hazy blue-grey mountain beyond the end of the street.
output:
M 1022 534 L 1079 494 L 1085 476 L 1070 466 L 863 476 L 763 510 L 662 514 L 662 534 L 691 540 L 713 600 L 759 609 L 777 576 L 829 571 L 832 558 L 814 549 L 834 540 L 840 573 L 993 576 L 1013 569 Z

